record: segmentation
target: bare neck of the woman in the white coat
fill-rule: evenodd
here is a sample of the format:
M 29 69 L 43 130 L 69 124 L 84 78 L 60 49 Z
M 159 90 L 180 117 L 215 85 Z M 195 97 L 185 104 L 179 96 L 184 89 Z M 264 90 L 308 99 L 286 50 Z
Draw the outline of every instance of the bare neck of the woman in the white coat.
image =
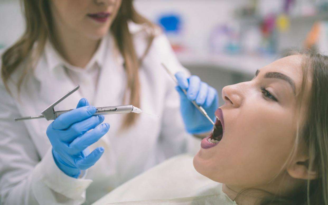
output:
M 92 40 L 60 24 L 59 21 L 55 22 L 56 49 L 68 63 L 84 68 L 97 50 L 100 40 Z

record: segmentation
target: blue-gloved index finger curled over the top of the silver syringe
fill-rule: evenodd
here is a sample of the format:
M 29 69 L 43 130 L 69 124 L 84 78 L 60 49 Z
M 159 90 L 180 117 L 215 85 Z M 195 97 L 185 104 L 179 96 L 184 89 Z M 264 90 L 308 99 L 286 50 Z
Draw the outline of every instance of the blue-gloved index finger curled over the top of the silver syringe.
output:
M 52 128 L 55 130 L 67 129 L 72 124 L 76 122 L 81 122 L 91 117 L 95 112 L 96 108 L 94 106 L 85 106 L 74 109 L 72 111 L 59 115 L 59 117 L 57 117 L 52 122 Z

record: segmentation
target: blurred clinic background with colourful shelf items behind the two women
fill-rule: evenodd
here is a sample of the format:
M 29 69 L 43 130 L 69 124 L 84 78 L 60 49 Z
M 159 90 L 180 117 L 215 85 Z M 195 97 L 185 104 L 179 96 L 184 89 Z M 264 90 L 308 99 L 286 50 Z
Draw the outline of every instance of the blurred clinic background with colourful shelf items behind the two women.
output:
M 304 48 L 314 24 L 328 19 L 328 0 L 134 0 L 134 6 L 163 28 L 182 65 L 218 92 L 252 79 L 285 50 Z M 0 19 L 1 50 L 24 31 L 19 0 L 0 0 Z M 328 39 L 321 42 L 328 46 Z

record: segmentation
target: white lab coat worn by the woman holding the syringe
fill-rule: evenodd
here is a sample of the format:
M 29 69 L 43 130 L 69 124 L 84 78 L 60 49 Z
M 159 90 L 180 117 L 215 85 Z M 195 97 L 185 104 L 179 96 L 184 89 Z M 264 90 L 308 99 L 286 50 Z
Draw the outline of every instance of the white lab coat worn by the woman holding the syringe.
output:
M 146 30 L 130 24 L 138 56 L 146 48 Z M 110 35 L 110 34 L 109 34 Z M 110 35 L 111 36 L 111 35 Z M 113 38 L 100 71 L 94 106 L 121 105 L 126 86 L 123 58 L 114 56 Z M 106 115 L 111 125 L 91 151 L 103 146 L 105 152 L 82 178 L 72 178 L 58 169 L 51 154 L 45 119 L 14 122 L 14 117 L 40 115 L 52 102 L 75 85 L 63 68 L 50 70 L 43 55 L 34 74 L 19 95 L 10 82 L 12 96 L 0 83 L 0 204 L 90 204 L 123 182 L 166 158 L 186 152 L 194 139 L 185 132 L 174 82 L 161 68 L 165 62 L 173 71 L 186 71 L 177 61 L 168 40 L 158 35 L 140 69 L 141 109 L 158 115 L 139 114 L 137 122 L 119 132 L 121 115 Z M 187 72 L 187 71 L 186 71 Z M 13 81 L 20 73 L 15 72 Z M 76 107 L 83 96 L 74 92 L 55 110 Z M 195 141 L 194 141 L 195 142 Z M 199 145 L 198 145 L 199 146 Z

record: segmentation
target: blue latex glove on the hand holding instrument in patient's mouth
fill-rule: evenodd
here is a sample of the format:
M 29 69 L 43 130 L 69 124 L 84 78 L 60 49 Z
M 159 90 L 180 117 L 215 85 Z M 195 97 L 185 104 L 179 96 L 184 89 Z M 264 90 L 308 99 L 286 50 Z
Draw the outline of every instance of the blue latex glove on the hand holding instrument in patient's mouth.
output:
M 201 134 L 213 129 L 213 124 L 198 111 L 191 101 L 202 106 L 215 122 L 215 111 L 218 108 L 218 96 L 214 88 L 202 82 L 198 76 L 186 78 L 182 72 L 175 74 L 178 85 L 175 89 L 180 94 L 180 111 L 188 133 Z M 187 91 L 187 96 L 180 88 Z

